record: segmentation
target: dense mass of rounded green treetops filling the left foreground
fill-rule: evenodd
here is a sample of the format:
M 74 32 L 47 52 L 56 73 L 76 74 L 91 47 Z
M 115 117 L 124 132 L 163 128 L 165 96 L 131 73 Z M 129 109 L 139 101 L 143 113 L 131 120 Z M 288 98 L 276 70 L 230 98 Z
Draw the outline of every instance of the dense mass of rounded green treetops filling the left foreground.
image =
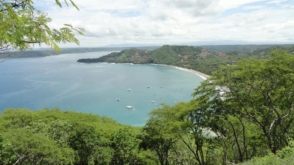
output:
M 0 164 L 138 164 L 136 134 L 98 115 L 7 109 L 0 116 Z

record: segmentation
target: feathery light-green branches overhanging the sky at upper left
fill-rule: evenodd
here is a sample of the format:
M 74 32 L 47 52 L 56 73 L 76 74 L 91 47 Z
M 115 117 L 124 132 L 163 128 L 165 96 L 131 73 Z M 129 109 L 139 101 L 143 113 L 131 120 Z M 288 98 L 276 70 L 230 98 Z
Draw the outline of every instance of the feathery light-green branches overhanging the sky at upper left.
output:
M 78 9 L 72 0 L 69 1 Z M 65 3 L 68 5 L 66 0 Z M 56 4 L 62 7 L 59 0 Z M 73 32 L 83 35 L 83 28 L 64 24 L 62 28 L 50 29 L 47 24 L 51 21 L 46 13 L 35 9 L 32 0 L 0 1 L 0 52 L 11 48 L 23 51 L 41 43 L 56 51 L 61 51 L 57 43 L 79 45 Z

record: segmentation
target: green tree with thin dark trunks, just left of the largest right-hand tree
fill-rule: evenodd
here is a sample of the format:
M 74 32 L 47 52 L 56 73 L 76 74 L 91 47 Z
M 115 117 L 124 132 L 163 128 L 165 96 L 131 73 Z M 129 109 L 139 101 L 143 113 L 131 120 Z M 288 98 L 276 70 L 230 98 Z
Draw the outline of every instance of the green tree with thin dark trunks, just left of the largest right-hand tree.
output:
M 170 133 L 178 137 L 191 151 L 192 156 L 200 165 L 212 164 L 211 132 L 218 128 L 219 109 L 211 108 L 208 99 L 193 99 L 187 103 L 178 103 L 174 107 L 164 106 L 162 109 L 153 110 L 150 114 L 166 123 Z

